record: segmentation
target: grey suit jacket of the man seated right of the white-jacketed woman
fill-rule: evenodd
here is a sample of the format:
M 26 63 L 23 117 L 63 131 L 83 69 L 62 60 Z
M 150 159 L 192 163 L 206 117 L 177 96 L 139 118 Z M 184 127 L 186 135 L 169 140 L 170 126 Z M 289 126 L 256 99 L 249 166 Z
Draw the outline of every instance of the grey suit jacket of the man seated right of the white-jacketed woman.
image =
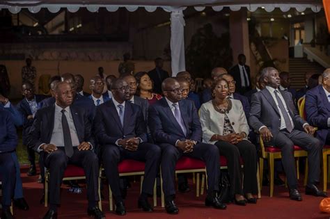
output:
M 291 93 L 282 90 L 280 92 L 285 100 L 285 104 L 288 106 L 290 116 L 294 122 L 294 129 L 303 130 L 303 125 L 306 121 L 298 115 Z M 273 137 L 276 138 L 281 127 L 281 117 L 276 103 L 267 88 L 252 95 L 249 124 L 255 131 L 259 131 L 260 127 L 265 125 L 272 131 Z

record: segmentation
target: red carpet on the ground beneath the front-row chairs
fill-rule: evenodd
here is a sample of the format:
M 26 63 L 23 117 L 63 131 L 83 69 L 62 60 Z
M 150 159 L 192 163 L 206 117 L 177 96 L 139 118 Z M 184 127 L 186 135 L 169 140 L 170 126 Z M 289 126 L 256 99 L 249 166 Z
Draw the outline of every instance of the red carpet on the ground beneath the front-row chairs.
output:
M 22 211 L 14 208 L 16 219 L 42 218 L 47 212 L 45 206 L 39 204 L 42 195 L 42 184 L 36 182 L 38 177 L 26 177 L 27 168 L 22 168 L 22 180 L 24 187 L 24 196 L 29 203 L 29 211 Z M 302 181 L 300 182 L 302 185 Z M 81 186 L 83 184 L 80 184 Z M 322 197 L 312 197 L 304 195 L 304 187 L 300 187 L 302 202 L 289 200 L 287 189 L 284 186 L 275 186 L 274 197 L 268 196 L 269 187 L 264 186 L 262 197 L 258 204 L 248 204 L 247 206 L 237 206 L 228 204 L 226 210 L 216 210 L 204 206 L 205 195 L 195 196 L 195 185 L 190 181 L 191 192 L 177 194 L 176 204 L 180 209 L 178 215 L 172 216 L 165 213 L 160 206 L 160 199 L 157 200 L 157 207 L 152 213 L 144 213 L 137 208 L 137 198 L 139 195 L 139 182 L 132 183 L 132 188 L 127 191 L 127 200 L 125 201 L 127 215 L 116 216 L 109 211 L 109 195 L 107 185 L 104 185 L 104 200 L 102 208 L 107 218 L 143 218 L 143 219 L 162 219 L 162 218 L 329 218 L 326 213 L 321 213 L 319 204 Z M 330 194 L 330 193 L 329 193 Z M 152 199 L 150 199 L 152 202 Z M 90 218 L 86 213 L 87 200 L 86 190 L 82 194 L 69 193 L 68 187 L 63 185 L 61 193 L 61 207 L 58 209 L 58 218 Z

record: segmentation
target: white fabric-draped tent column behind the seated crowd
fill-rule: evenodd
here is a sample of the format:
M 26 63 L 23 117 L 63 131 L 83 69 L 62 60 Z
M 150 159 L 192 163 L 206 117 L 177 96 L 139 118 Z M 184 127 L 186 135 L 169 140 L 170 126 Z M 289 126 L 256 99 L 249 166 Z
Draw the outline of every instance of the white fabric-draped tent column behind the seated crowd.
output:
M 172 76 L 186 70 L 184 58 L 184 18 L 182 10 L 171 12 L 171 67 Z

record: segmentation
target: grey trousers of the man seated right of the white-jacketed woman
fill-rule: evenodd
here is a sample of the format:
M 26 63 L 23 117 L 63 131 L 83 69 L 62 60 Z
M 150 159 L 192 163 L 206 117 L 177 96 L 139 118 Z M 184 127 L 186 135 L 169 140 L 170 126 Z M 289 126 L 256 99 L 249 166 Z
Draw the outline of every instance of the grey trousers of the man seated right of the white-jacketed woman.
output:
M 294 145 L 298 145 L 308 152 L 308 181 L 307 185 L 314 185 L 320 180 L 320 156 L 322 145 L 317 138 L 308 133 L 294 129 L 291 133 L 280 131 L 274 139 L 274 145 L 281 148 L 282 163 L 289 188 L 297 188 L 298 180 L 294 165 Z

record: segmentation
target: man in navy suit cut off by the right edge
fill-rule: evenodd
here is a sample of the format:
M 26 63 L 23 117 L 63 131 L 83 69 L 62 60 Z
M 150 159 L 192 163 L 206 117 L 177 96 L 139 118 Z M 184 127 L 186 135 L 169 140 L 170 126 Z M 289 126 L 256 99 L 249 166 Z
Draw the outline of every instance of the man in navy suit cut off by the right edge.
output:
M 322 85 L 306 92 L 305 111 L 321 146 L 330 145 L 330 68 L 322 74 Z

